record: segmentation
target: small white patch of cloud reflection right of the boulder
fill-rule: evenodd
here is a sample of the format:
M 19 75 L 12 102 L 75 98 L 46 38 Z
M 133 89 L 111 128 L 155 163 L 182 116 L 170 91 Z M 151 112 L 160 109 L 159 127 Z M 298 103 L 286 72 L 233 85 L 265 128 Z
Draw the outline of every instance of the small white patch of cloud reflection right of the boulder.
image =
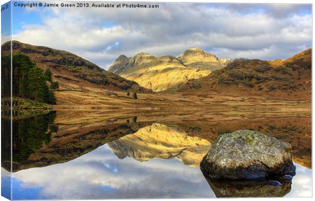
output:
M 311 197 L 312 196 L 312 170 L 297 163 L 296 176 L 293 177 L 291 192 L 286 195 L 290 197 Z

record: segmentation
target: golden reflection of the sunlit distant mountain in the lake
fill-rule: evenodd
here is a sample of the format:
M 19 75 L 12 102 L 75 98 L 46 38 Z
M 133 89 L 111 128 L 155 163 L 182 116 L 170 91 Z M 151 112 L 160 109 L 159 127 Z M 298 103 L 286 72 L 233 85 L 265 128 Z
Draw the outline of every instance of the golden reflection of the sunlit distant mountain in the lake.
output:
M 185 165 L 198 167 L 211 144 L 188 136 L 177 127 L 154 123 L 108 145 L 120 159 L 126 156 L 138 161 L 177 158 Z

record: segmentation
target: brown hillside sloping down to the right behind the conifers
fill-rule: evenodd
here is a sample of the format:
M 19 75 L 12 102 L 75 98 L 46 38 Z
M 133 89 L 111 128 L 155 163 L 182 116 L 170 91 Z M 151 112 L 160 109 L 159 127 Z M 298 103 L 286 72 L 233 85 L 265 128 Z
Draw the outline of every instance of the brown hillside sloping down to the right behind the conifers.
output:
M 11 41 L 4 43 L 2 54 L 9 54 Z M 13 54 L 22 53 L 42 69 L 50 69 L 53 80 L 59 82 L 61 90 L 82 91 L 83 87 L 102 90 L 150 92 L 140 87 L 135 81 L 130 81 L 110 73 L 97 65 L 86 61 L 80 56 L 67 51 L 35 46 L 19 41 L 12 41 Z

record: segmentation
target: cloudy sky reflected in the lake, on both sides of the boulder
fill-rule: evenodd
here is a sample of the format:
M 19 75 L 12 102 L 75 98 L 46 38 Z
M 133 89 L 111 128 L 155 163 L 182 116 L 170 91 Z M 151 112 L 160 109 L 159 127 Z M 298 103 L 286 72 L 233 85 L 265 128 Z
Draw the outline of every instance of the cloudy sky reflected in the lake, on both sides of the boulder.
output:
M 310 196 L 311 170 L 295 165 L 297 175 L 286 196 Z M 215 197 L 199 168 L 176 159 L 120 160 L 107 145 L 67 163 L 21 170 L 13 177 L 19 183 L 13 198 L 15 193 L 26 196 L 29 189 L 40 189 L 36 198 L 42 199 Z

